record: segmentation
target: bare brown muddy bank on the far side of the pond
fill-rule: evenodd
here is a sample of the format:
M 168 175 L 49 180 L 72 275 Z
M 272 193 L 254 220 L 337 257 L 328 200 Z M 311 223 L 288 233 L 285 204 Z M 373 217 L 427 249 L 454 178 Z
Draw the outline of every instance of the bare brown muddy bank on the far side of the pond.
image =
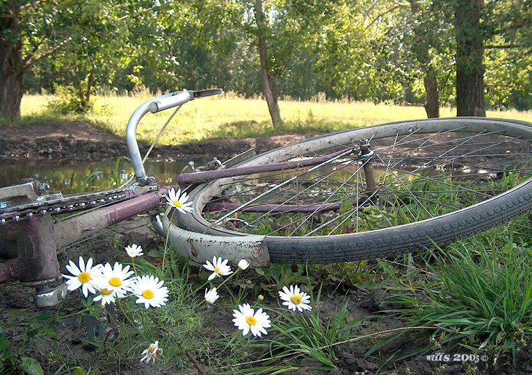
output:
M 309 135 L 274 135 L 256 138 L 222 138 L 179 146 L 155 147 L 152 160 L 228 158 L 252 147 L 257 153 L 299 142 Z M 139 144 L 144 154 L 150 144 Z M 0 160 L 28 158 L 74 161 L 102 160 L 129 155 L 126 142 L 85 122 L 46 122 L 29 126 L 0 126 Z

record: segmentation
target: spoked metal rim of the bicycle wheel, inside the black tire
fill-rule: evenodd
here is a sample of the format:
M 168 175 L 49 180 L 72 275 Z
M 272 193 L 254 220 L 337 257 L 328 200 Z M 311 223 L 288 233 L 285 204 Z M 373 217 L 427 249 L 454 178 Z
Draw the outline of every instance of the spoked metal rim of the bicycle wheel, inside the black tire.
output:
M 496 119 L 437 119 L 355 129 L 277 149 L 243 165 L 323 155 L 353 145 L 361 138 L 371 139 L 373 145 L 370 163 L 376 169 L 379 187 L 374 192 L 364 192 L 365 162 L 346 157 L 316 169 L 316 173 L 309 173 L 306 168 L 204 184 L 192 193 L 193 220 L 203 229 L 227 235 L 319 238 L 376 231 L 465 209 L 514 188 L 532 173 L 531 128 Z M 232 201 L 229 203 L 245 203 L 294 173 L 298 174 L 294 183 L 278 188 L 253 205 L 297 203 L 323 208 L 325 204 L 339 203 L 339 211 L 331 214 L 314 208 L 310 213 L 272 210 L 240 212 L 236 217 L 227 217 L 227 210 L 206 212 L 213 202 L 227 198 Z M 223 199 L 220 191 L 225 191 Z M 316 201 L 316 197 L 321 199 Z

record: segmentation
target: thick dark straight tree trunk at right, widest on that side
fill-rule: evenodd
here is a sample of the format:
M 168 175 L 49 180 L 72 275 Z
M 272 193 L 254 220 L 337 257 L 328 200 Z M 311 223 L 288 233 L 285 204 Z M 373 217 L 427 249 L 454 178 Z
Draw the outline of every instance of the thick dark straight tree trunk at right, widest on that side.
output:
M 454 0 L 456 31 L 456 115 L 485 116 L 483 0 Z

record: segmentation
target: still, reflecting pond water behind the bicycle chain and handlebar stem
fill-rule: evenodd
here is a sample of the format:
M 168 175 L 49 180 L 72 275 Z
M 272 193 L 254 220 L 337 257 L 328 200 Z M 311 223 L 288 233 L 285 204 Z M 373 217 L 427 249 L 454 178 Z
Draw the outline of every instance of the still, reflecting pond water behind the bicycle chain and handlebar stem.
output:
M 194 160 L 201 165 L 203 160 Z M 186 167 L 188 160 L 154 162 L 147 160 L 148 175 L 155 176 L 161 185 L 175 183 L 175 177 Z M 14 185 L 23 178 L 35 178 L 49 183 L 50 191 L 61 190 L 63 194 L 115 189 L 133 176 L 133 167 L 128 160 L 102 160 L 87 163 L 51 160 L 29 160 L 24 163 L 3 165 L 0 168 L 0 187 Z

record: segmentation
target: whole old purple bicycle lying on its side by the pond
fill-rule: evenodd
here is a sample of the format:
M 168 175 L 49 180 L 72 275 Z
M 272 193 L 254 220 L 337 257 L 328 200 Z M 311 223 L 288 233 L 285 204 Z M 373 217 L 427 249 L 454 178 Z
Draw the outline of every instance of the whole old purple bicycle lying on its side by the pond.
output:
M 196 263 L 223 256 L 264 267 L 419 251 L 532 208 L 531 124 L 457 117 L 355 128 L 199 168 L 189 163 L 177 181 L 193 212 L 171 222 L 161 207 L 172 187 L 146 174 L 136 129 L 148 112 L 177 112 L 221 92 L 173 92 L 135 110 L 126 142 L 136 181 L 124 188 L 65 197 L 38 181 L 0 188 L 0 256 L 7 259 L 0 283 L 35 288 L 37 306 L 58 304 L 66 290 L 57 252 L 139 213 L 149 213 L 156 232 Z M 83 214 L 52 220 L 76 211 Z

